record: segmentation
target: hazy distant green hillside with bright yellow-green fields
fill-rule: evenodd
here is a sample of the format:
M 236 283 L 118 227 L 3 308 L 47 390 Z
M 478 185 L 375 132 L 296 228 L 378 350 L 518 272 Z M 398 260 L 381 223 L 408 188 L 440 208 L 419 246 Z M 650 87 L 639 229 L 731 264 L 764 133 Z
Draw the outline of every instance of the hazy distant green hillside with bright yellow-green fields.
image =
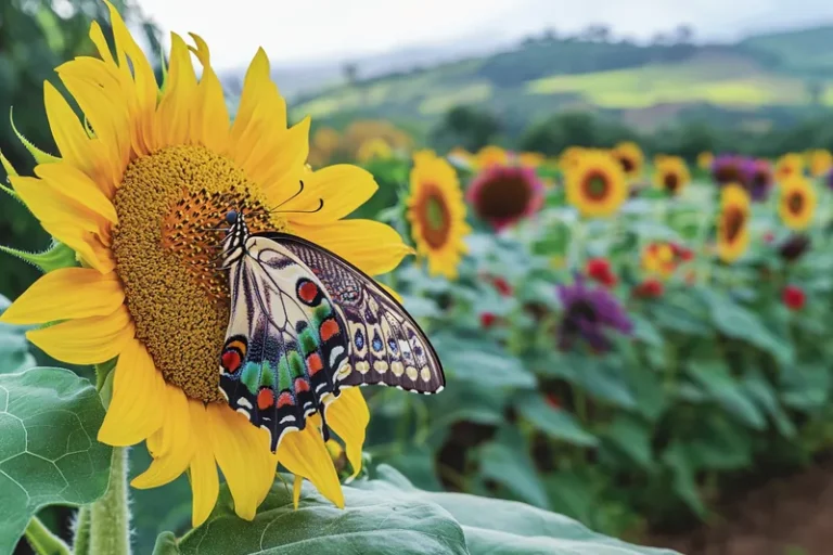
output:
M 735 112 L 833 106 L 829 81 L 833 27 L 705 47 L 544 38 L 487 57 L 336 87 L 296 108 L 319 121 L 349 114 L 427 128 L 457 105 L 511 113 L 522 121 L 581 106 L 624 112 L 654 127 L 704 105 Z

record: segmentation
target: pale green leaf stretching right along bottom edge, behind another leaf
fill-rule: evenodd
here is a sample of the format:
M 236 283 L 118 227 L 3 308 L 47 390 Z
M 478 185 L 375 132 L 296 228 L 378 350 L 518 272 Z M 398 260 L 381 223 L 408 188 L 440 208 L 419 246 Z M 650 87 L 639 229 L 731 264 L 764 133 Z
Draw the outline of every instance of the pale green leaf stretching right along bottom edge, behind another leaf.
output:
M 537 507 L 465 493 L 432 493 L 410 486 L 382 465 L 380 479 L 359 482 L 384 499 L 427 502 L 446 509 L 463 528 L 471 555 L 675 555 L 670 550 L 630 545 L 589 530 L 565 516 Z M 363 551 L 359 552 L 362 555 Z M 390 551 L 388 553 L 397 553 Z

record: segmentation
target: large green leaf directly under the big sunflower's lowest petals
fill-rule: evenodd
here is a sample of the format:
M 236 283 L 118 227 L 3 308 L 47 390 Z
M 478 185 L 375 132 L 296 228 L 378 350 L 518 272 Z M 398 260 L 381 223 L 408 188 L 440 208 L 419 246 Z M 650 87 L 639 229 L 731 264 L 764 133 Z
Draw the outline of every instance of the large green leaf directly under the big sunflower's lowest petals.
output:
M 285 479 L 292 483 L 291 476 Z M 295 511 L 291 489 L 277 480 L 255 519 L 247 522 L 234 514 L 223 485 L 214 513 L 203 526 L 180 540 L 179 552 L 183 555 L 469 553 L 460 525 L 436 503 L 394 488 L 390 494 L 379 494 L 372 487 L 344 487 L 344 498 L 345 508 L 337 508 L 305 481 L 300 504 Z M 161 543 L 168 551 L 159 554 L 177 553 L 169 547 L 169 537 L 157 540 L 157 546 Z

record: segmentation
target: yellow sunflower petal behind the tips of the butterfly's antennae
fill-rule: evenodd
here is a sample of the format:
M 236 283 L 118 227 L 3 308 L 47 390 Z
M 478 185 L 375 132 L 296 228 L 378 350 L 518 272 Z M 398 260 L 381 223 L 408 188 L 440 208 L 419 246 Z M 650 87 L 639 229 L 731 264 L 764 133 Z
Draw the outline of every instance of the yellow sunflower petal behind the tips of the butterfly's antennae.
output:
M 293 210 L 316 210 L 320 201 L 323 206 L 313 214 L 304 214 L 300 223 L 322 224 L 349 216 L 359 206 L 363 205 L 379 189 L 373 176 L 358 166 L 338 164 L 318 171 L 313 171 L 304 178 L 304 192 L 296 198 L 281 207 L 287 212 Z M 272 195 L 274 196 L 274 195 Z M 283 198 L 272 198 L 275 204 Z M 294 214 L 287 214 L 293 221 Z

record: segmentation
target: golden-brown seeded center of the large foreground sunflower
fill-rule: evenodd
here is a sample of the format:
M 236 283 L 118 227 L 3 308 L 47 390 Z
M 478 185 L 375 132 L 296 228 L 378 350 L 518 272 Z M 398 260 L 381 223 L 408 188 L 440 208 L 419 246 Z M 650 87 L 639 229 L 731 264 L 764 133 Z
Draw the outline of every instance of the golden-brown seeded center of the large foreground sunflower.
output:
M 249 229 L 285 231 L 259 188 L 229 159 L 195 145 L 137 158 L 114 201 L 116 271 L 136 336 L 165 379 L 192 399 L 221 400 L 218 357 L 229 321 L 219 269 L 223 217 L 243 210 Z

